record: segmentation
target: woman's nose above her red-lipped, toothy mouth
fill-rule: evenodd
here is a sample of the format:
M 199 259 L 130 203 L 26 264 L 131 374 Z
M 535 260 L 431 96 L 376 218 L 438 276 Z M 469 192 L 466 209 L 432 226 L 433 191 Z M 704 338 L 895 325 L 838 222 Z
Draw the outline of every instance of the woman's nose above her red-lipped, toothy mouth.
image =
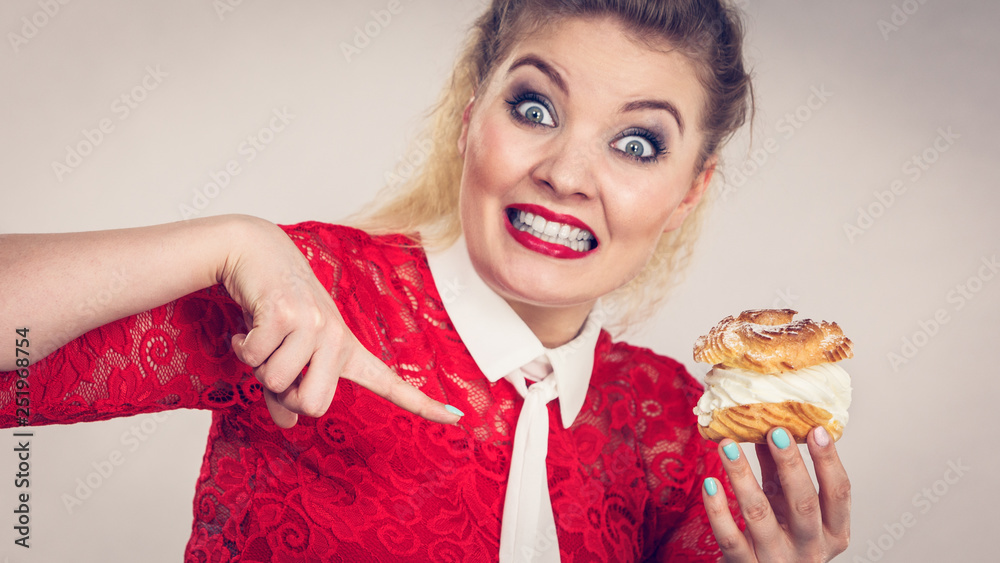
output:
M 600 143 L 594 137 L 563 132 L 553 137 L 540 151 L 532 170 L 536 185 L 552 190 L 554 195 L 590 199 L 597 195 L 597 167 L 601 158 Z

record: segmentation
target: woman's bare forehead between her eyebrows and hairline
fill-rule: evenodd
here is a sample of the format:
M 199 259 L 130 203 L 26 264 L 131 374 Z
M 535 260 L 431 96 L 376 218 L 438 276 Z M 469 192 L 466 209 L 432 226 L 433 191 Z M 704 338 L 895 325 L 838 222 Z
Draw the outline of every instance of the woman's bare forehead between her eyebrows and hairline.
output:
M 697 124 L 704 91 L 690 57 L 664 40 L 637 37 L 611 17 L 574 17 L 538 26 L 515 42 L 495 77 L 514 61 L 534 55 L 565 80 L 570 97 L 604 99 L 616 106 L 667 99 L 684 120 Z

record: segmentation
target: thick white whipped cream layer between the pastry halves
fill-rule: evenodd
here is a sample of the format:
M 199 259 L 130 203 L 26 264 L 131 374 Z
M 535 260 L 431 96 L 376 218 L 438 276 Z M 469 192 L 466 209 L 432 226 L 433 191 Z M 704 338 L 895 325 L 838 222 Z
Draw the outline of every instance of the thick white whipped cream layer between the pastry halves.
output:
M 754 403 L 796 401 L 826 409 L 833 420 L 847 425 L 851 406 L 851 376 L 833 363 L 819 364 L 780 375 L 739 368 L 713 367 L 705 376 L 705 394 L 694 408 L 698 424 L 708 426 L 712 411 Z

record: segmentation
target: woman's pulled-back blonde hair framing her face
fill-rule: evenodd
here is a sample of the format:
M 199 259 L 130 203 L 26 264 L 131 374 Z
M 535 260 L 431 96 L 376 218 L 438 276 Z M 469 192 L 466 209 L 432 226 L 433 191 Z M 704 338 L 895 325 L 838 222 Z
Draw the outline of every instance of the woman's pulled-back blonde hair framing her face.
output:
M 430 148 L 422 168 L 401 185 L 383 189 L 368 208 L 351 218 L 351 224 L 372 234 L 405 233 L 426 248 L 454 243 L 462 234 L 458 201 L 463 162 L 458 139 L 472 94 L 524 34 L 561 18 L 608 15 L 637 37 L 665 41 L 698 63 L 707 100 L 700 123 L 705 143 L 699 167 L 704 167 L 752 112 L 743 27 L 734 7 L 724 0 L 494 0 L 473 25 L 433 109 Z M 705 207 L 701 203 L 679 229 L 665 233 L 645 268 L 603 299 L 605 309 L 623 328 L 650 316 L 680 281 Z

